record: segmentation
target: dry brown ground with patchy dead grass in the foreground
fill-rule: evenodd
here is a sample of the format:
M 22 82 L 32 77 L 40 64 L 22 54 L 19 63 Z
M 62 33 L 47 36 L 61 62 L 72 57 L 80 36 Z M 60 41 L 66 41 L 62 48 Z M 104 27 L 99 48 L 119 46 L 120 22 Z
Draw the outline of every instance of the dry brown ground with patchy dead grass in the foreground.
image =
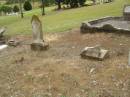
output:
M 0 52 L 1 97 L 129 97 L 130 35 L 79 29 L 48 34 L 50 49 L 44 52 L 30 50 L 31 36 L 16 38 L 22 45 Z M 85 46 L 97 44 L 110 50 L 109 58 L 81 59 Z

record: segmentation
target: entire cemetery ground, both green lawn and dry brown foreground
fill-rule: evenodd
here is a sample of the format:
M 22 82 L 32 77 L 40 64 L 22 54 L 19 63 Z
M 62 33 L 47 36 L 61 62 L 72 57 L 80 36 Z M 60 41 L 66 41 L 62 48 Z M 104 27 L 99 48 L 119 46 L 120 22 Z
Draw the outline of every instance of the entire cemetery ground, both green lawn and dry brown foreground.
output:
M 48 9 L 41 20 L 50 48 L 42 52 L 31 51 L 29 45 L 32 42 L 30 19 L 40 10 L 28 12 L 23 20 L 15 16 L 0 17 L 0 25 L 8 29 L 6 35 L 20 41 L 17 47 L 0 52 L 0 96 L 129 97 L 130 35 L 81 34 L 79 30 L 84 20 L 121 15 L 125 3 L 115 0 L 111 4 L 59 12 Z M 84 47 L 97 44 L 110 51 L 108 58 L 98 61 L 80 57 Z

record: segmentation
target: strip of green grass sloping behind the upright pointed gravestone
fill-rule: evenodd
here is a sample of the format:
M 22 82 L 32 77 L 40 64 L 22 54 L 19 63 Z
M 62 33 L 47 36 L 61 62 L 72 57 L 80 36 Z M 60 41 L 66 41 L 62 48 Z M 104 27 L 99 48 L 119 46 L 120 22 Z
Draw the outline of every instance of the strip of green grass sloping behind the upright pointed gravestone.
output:
M 44 32 L 62 32 L 74 27 L 79 27 L 82 21 L 104 16 L 121 16 L 124 4 L 129 0 L 114 0 L 113 3 L 86 6 L 82 8 L 53 11 L 55 7 L 47 7 L 46 15 L 41 16 L 41 9 L 34 9 L 20 16 L 0 16 L 0 26 L 8 28 L 8 35 L 31 34 L 31 17 L 39 15 L 43 23 Z

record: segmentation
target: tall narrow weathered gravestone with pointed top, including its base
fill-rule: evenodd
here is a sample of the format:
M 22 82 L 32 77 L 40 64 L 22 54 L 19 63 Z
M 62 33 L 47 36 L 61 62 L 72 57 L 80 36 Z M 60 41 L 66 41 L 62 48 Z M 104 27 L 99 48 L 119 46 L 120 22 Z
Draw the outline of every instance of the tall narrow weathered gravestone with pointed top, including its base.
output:
M 42 23 L 36 15 L 32 16 L 33 43 L 31 49 L 35 51 L 47 50 L 49 45 L 43 40 Z

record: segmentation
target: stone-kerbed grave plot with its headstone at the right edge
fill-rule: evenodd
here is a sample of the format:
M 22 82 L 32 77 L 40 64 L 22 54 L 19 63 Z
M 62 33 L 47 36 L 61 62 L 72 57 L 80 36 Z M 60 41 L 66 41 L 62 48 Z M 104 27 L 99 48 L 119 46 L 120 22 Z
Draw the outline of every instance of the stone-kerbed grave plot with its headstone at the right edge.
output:
M 130 33 L 130 5 L 125 5 L 122 17 L 104 17 L 85 21 L 81 25 L 81 33 L 95 31 L 114 31 Z

